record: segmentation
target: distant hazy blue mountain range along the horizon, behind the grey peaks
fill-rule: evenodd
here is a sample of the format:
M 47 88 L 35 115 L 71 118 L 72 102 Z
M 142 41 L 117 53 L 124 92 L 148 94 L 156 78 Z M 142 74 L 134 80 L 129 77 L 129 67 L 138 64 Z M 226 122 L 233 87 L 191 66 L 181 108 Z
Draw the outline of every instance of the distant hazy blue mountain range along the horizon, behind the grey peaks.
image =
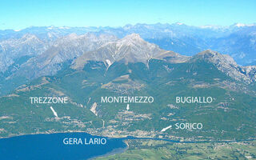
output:
M 135 33 L 164 50 L 173 50 L 189 56 L 207 49 L 216 50 L 222 54 L 229 54 L 240 65 L 253 65 L 256 59 L 255 30 L 254 24 L 239 23 L 232 26 L 186 26 L 179 22 L 174 24 L 136 24 L 123 27 L 31 26 L 24 30 L 0 30 L 0 52 L 8 54 L 14 50 L 8 48 L 12 44 L 25 41 L 24 38 L 30 40 L 33 36 L 38 38 L 38 42 L 35 40 L 34 43 L 27 44 L 29 46 L 26 48 L 26 44 L 20 44 L 21 46 L 16 46 L 15 50 L 33 52 L 30 47 L 34 47 L 38 48 L 37 54 L 41 54 L 40 51 L 46 50 L 54 45 L 59 38 L 69 34 L 109 34 L 117 38 L 124 38 L 128 34 Z

